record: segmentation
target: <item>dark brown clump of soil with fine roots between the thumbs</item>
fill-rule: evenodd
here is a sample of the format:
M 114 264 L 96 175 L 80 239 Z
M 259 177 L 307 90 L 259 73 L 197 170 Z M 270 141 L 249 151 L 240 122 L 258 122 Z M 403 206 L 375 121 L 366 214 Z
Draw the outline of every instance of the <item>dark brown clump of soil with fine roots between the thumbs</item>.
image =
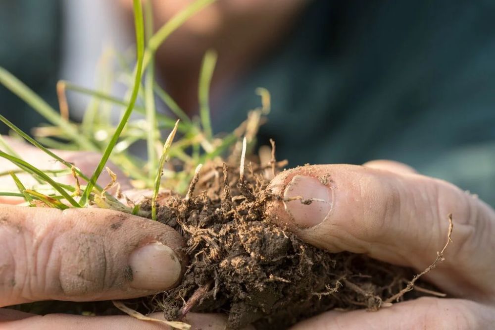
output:
M 409 269 L 330 254 L 272 223 L 265 207 L 280 197 L 267 191 L 265 174 L 275 165 L 249 164 L 244 175 L 239 166 L 210 165 L 185 198 L 162 196 L 158 220 L 184 235 L 190 259 L 182 283 L 148 302 L 167 320 L 220 312 L 229 329 L 285 329 L 327 310 L 378 310 L 406 287 Z

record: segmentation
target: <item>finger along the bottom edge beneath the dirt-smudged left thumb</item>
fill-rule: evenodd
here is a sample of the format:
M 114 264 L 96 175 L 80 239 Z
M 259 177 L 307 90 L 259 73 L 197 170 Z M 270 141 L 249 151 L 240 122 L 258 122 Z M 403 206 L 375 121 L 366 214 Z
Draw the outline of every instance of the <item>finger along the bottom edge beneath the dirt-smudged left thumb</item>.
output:
M 17 311 L 0 310 L 0 325 L 4 330 L 38 329 L 38 330 L 164 330 L 170 329 L 161 323 L 141 321 L 130 316 L 80 316 L 67 314 L 49 314 L 46 316 L 22 313 Z M 2 315 L 3 314 L 3 315 Z M 164 320 L 163 313 L 153 313 L 149 317 Z M 4 320 L 2 322 L 2 319 Z M 225 330 L 227 317 L 221 314 L 189 313 L 183 320 L 190 324 L 192 329 Z M 245 330 L 253 329 L 246 327 Z

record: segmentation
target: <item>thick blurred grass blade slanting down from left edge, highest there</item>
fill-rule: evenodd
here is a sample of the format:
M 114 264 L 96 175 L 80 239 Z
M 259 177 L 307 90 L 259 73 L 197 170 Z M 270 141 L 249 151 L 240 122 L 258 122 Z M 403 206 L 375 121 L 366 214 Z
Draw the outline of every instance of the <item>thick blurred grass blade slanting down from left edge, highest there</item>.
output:
M 57 111 L 49 106 L 48 103 L 46 103 L 29 87 L 2 67 L 0 67 L 0 83 L 31 106 L 31 108 L 43 115 L 52 124 L 62 128 L 67 136 L 79 144 L 81 148 L 86 150 L 96 150 L 96 146 L 85 137 L 81 136 L 73 124 L 63 119 Z

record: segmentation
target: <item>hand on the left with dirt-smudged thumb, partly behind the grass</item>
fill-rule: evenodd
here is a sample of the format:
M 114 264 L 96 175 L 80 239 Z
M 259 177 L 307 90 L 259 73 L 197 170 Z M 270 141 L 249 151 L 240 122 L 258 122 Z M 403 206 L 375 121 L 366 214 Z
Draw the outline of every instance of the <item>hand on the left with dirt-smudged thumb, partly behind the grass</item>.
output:
M 63 168 L 36 148 L 9 143 L 39 168 Z M 96 153 L 56 153 L 86 173 L 99 161 Z M 16 167 L 0 159 L 0 171 L 10 169 Z M 124 175 L 112 170 L 126 187 Z M 29 185 L 29 176 L 20 177 Z M 15 189 L 9 176 L 0 182 Z M 22 200 L 0 200 L 5 202 Z M 169 226 L 116 211 L 0 205 L 0 307 L 50 299 L 126 299 L 166 290 L 182 276 L 182 246 L 181 235 Z M 163 313 L 150 316 L 163 319 Z M 224 329 L 226 317 L 190 313 L 187 322 L 199 329 Z M 0 328 L 164 329 L 128 316 L 39 316 L 7 308 L 0 309 Z

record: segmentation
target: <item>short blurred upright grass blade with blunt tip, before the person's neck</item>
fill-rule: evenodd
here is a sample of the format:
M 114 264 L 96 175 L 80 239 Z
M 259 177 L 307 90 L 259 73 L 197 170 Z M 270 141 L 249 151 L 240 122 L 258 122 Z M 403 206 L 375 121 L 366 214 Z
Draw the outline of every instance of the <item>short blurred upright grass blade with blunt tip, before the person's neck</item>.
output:
M 211 139 L 213 132 L 211 130 L 209 94 L 211 78 L 215 70 L 217 54 L 215 51 L 209 50 L 203 57 L 201 72 L 199 74 L 198 100 L 199 100 L 199 117 L 201 118 L 201 126 L 207 139 Z

